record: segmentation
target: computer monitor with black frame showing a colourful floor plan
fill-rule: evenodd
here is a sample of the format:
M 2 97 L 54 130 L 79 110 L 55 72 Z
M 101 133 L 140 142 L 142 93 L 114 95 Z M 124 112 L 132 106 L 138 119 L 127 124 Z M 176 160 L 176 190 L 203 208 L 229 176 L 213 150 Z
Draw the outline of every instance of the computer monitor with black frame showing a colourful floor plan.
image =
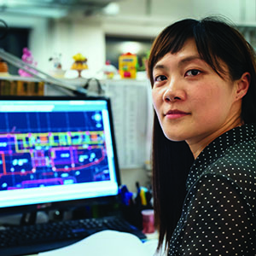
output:
M 119 183 L 108 98 L 0 97 L 0 213 L 112 198 Z

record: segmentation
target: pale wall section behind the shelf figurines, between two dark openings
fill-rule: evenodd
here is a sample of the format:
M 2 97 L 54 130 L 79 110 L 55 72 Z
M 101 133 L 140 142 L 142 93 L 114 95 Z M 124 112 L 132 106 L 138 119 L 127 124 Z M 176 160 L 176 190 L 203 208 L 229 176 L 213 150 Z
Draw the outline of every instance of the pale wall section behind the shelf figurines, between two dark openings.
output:
M 50 20 L 48 51 L 61 53 L 63 69 L 73 63 L 73 55 L 81 53 L 88 59 L 90 70 L 98 71 L 105 62 L 105 37 L 102 24 L 90 20 Z

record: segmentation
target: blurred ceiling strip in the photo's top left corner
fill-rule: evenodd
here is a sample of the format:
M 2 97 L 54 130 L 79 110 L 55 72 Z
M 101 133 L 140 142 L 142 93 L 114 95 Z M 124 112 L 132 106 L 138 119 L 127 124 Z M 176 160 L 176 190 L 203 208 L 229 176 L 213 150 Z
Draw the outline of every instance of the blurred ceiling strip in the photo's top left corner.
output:
M 102 12 L 108 4 L 122 0 L 0 0 L 0 13 L 61 18 L 83 12 L 85 16 Z

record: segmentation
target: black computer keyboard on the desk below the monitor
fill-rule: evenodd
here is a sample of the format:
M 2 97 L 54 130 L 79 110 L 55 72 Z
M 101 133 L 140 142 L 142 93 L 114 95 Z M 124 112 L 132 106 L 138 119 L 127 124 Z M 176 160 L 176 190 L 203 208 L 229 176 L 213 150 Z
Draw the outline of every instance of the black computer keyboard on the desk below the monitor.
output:
M 64 247 L 102 230 L 129 232 L 141 240 L 146 236 L 124 218 L 84 218 L 0 227 L 0 255 L 18 256 Z

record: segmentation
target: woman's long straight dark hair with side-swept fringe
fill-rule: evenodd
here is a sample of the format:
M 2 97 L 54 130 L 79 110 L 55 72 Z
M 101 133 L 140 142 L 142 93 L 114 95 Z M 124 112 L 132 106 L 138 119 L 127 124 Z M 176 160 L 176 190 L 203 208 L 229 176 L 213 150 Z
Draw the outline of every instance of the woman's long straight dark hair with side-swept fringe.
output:
M 256 122 L 256 67 L 253 48 L 233 26 L 220 18 L 207 17 L 203 20 L 185 19 L 167 26 L 154 40 L 148 59 L 148 77 L 154 84 L 153 68 L 167 53 L 177 53 L 190 39 L 201 58 L 220 77 L 225 73 L 220 65 L 228 67 L 231 80 L 240 79 L 250 73 L 250 86 L 241 103 L 241 119 L 244 123 Z M 194 157 L 185 142 L 168 140 L 159 120 L 154 114 L 153 129 L 153 189 L 154 214 L 159 229 L 159 246 L 166 239 L 166 247 L 177 225 L 186 195 L 186 178 Z

